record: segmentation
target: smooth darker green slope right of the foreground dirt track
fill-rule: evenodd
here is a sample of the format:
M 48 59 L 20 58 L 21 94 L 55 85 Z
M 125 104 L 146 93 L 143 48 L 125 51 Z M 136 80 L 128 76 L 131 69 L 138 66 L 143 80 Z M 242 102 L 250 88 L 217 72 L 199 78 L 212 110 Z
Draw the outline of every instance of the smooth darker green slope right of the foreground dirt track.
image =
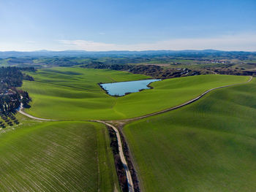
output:
M 125 126 L 144 191 L 256 191 L 256 80 Z

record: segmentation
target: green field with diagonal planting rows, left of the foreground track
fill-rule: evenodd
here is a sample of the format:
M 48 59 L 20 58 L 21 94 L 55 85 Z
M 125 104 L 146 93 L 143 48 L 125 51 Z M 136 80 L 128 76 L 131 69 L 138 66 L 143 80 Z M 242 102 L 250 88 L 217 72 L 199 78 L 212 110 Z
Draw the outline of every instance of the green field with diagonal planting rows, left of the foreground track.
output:
M 21 122 L 15 129 L 0 130 L 1 191 L 118 190 L 104 126 Z

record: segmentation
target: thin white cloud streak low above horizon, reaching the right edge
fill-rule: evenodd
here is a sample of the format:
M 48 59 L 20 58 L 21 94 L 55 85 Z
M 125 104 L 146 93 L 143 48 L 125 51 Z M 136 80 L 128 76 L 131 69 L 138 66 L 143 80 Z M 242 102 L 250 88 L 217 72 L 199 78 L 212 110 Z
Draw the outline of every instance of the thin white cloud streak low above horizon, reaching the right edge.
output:
M 256 51 L 256 34 L 235 34 L 213 38 L 169 39 L 153 43 L 119 45 L 86 40 L 59 40 L 69 50 L 245 50 Z

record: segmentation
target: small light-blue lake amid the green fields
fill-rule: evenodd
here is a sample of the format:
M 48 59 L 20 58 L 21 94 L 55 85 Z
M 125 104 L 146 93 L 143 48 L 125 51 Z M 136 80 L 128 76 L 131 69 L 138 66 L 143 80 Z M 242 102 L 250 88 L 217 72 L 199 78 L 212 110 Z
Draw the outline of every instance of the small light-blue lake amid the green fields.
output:
M 159 80 L 137 80 L 127 82 L 111 82 L 99 84 L 110 96 L 124 96 L 125 93 L 135 93 L 141 89 L 148 89 L 151 82 Z

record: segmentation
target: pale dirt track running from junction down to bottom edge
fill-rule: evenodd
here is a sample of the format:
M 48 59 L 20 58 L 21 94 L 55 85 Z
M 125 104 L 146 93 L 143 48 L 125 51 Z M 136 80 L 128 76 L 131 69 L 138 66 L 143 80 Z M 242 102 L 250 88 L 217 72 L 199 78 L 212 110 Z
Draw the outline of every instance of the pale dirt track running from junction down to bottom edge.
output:
M 123 151 L 123 147 L 121 144 L 121 137 L 120 137 L 118 129 L 115 126 L 112 126 L 110 123 L 106 123 L 103 120 L 95 120 L 95 122 L 104 123 L 106 126 L 110 126 L 111 128 L 113 128 L 113 130 L 116 132 L 116 137 L 117 137 L 117 141 L 118 141 L 118 151 L 119 151 L 119 155 L 121 158 L 121 162 L 124 166 L 125 174 L 127 175 L 127 183 L 128 183 L 129 192 L 134 192 L 132 175 L 131 175 L 131 172 L 129 172 L 129 167 L 128 167 L 127 161 L 124 157 L 124 151 Z

